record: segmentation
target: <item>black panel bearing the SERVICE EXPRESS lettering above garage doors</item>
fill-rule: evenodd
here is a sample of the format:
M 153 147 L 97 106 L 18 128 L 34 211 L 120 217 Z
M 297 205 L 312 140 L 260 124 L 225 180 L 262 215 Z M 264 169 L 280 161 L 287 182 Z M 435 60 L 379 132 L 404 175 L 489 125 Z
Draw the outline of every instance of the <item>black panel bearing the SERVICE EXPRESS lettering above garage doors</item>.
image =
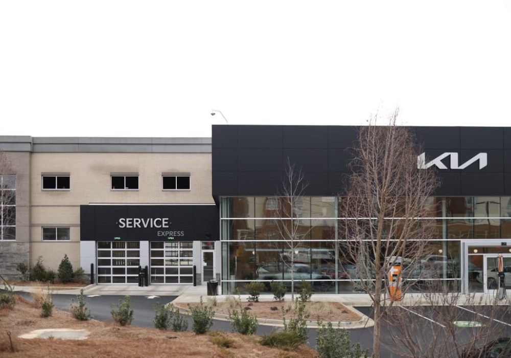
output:
M 215 205 L 81 205 L 81 241 L 219 239 Z

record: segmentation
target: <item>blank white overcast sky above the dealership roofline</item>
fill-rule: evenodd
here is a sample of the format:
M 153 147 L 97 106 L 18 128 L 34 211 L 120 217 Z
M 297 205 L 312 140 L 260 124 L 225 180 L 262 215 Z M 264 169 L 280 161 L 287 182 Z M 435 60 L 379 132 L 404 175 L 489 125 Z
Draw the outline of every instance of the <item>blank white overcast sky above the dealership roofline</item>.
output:
M 0 135 L 511 126 L 509 1 L 0 1 Z

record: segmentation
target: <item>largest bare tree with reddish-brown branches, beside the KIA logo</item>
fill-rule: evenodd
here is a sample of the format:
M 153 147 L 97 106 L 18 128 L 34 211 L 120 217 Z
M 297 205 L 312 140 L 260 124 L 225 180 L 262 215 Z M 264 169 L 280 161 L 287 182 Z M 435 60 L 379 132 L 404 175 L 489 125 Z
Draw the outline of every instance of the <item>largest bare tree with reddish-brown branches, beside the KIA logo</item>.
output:
M 428 217 L 430 196 L 437 187 L 435 173 L 418 169 L 421 151 L 413 133 L 396 124 L 398 110 L 385 126 L 377 126 L 377 116 L 361 127 L 350 164 L 345 193 L 340 194 L 339 255 L 356 267 L 358 286 L 374 304 L 373 354 L 380 356 L 381 321 L 386 306 L 394 302 L 387 293 L 385 278 L 397 257 L 399 273 L 407 282 L 434 237 L 434 220 Z M 404 267 L 406 265 L 406 268 Z M 353 279 L 353 277 L 352 277 Z M 403 294 L 406 285 L 399 284 Z

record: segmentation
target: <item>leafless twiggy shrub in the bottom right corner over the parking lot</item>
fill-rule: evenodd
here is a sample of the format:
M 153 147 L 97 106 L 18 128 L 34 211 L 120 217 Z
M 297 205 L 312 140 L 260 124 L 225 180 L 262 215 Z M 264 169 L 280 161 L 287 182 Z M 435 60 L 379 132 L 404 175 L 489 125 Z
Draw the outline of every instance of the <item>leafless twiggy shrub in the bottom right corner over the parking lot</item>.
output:
M 439 281 L 428 281 L 425 291 L 407 300 L 406 307 L 394 305 L 387 310 L 389 329 L 383 341 L 390 351 L 416 358 L 497 356 L 480 347 L 509 337 L 511 325 L 505 322 L 511 314 L 509 297 L 497 301 L 490 295 L 464 295 Z M 506 355 L 498 356 L 508 356 L 508 349 Z

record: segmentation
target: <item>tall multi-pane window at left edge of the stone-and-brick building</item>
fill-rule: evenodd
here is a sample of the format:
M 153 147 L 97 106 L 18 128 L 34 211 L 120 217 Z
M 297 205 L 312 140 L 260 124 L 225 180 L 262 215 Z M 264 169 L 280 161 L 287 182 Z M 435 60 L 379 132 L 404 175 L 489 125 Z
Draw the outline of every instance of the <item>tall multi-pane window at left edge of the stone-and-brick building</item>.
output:
M 16 175 L 0 175 L 0 239 L 16 239 Z

